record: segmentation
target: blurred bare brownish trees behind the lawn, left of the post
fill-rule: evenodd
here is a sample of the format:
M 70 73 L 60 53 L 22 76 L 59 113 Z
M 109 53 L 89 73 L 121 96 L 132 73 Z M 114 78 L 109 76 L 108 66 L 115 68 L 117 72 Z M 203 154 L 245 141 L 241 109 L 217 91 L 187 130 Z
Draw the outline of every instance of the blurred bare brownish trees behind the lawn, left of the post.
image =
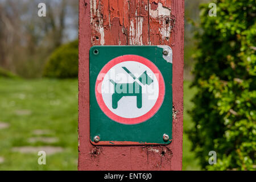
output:
M 42 2 L 46 17 L 38 16 Z M 78 1 L 0 0 L 0 27 L 0 66 L 23 77 L 40 76 L 48 55 L 77 39 Z

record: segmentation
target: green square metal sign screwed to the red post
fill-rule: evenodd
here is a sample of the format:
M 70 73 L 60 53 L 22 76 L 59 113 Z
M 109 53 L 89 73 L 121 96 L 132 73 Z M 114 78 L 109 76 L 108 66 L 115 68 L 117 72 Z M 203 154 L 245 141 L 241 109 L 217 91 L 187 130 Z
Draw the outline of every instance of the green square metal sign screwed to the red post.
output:
M 90 49 L 90 141 L 94 145 L 169 144 L 172 49 Z

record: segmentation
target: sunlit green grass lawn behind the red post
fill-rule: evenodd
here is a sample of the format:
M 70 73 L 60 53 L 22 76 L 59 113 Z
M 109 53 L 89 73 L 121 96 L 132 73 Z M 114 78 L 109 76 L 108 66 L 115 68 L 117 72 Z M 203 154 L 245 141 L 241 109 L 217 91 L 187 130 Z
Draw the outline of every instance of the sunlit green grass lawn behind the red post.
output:
M 193 127 L 187 110 L 196 90 L 189 84 L 184 82 L 184 131 Z M 77 170 L 77 80 L 0 78 L 0 141 L 0 171 Z M 200 169 L 190 147 L 184 133 L 183 170 Z M 40 150 L 47 165 L 38 164 Z

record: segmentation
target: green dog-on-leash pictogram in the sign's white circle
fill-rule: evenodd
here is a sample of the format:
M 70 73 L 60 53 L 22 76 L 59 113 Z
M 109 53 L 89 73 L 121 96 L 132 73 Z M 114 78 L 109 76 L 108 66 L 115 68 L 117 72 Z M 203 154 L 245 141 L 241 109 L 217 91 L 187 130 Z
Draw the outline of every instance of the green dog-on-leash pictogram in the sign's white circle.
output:
M 142 73 L 138 78 L 133 75 L 126 67 L 122 67 L 126 73 L 128 73 L 133 79 L 133 83 L 116 83 L 112 79 L 110 82 L 114 85 L 114 93 L 112 95 L 112 107 L 117 109 L 118 101 L 125 96 L 135 96 L 137 99 L 137 108 L 142 108 L 142 86 L 137 82 L 141 82 L 143 85 L 151 85 L 153 80 L 147 75 L 147 71 Z

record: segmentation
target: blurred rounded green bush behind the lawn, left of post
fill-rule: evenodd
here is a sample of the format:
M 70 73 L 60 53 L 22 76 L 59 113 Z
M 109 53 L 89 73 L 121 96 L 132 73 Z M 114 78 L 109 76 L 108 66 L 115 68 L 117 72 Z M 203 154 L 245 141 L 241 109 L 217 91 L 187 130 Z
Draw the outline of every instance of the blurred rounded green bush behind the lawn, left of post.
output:
M 57 48 L 44 67 L 43 76 L 73 78 L 78 75 L 78 40 Z

